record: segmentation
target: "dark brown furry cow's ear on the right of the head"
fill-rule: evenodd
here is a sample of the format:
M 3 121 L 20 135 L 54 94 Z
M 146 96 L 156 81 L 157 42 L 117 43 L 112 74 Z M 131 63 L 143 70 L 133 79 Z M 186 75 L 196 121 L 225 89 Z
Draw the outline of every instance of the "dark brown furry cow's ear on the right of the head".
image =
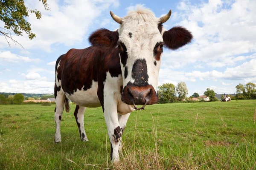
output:
M 181 26 L 175 26 L 163 33 L 163 42 L 171 50 L 177 50 L 191 42 L 192 39 L 193 35 L 191 32 Z

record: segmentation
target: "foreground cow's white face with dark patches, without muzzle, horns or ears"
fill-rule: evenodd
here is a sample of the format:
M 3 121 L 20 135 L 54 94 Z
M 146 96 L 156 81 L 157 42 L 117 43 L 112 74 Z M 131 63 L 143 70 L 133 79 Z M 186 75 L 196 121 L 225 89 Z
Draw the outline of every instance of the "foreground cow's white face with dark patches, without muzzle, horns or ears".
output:
M 163 36 L 159 18 L 148 10 L 130 12 L 122 18 L 118 47 L 124 87 L 152 85 L 157 91 L 158 73 L 163 52 Z M 134 19 L 135 18 L 135 19 Z

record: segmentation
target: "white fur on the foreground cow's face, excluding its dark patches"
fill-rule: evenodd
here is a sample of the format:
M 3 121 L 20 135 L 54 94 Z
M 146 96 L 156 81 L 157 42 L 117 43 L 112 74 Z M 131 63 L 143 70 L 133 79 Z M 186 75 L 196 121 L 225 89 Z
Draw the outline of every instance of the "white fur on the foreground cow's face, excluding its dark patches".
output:
M 152 85 L 157 91 L 158 74 L 160 70 L 160 61 L 154 65 L 154 47 L 157 42 L 163 42 L 163 36 L 158 29 L 159 18 L 149 9 L 138 8 L 137 11 L 130 11 L 126 17 L 122 18 L 122 24 L 118 29 L 119 41 L 125 44 L 128 59 L 128 76 L 123 78 L 124 86 L 128 82 L 134 82 L 131 77 L 132 67 L 137 59 L 145 59 L 148 70 L 148 84 Z M 132 37 L 128 36 L 132 33 Z M 162 31 L 163 33 L 163 31 Z M 124 67 L 121 64 L 122 73 Z M 124 77 L 124 75 L 123 75 Z

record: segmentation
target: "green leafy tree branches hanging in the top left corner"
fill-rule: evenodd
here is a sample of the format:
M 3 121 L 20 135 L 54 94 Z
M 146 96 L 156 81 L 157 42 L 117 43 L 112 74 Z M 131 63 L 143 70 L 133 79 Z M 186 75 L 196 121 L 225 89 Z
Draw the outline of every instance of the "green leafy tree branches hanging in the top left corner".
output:
M 40 1 L 42 1 L 44 8 L 49 10 L 47 0 Z M 4 27 L 0 27 L 0 35 L 3 35 L 6 40 L 9 39 L 14 42 L 17 41 L 12 38 L 12 32 L 17 36 L 26 33 L 30 40 L 35 38 L 35 34 L 32 33 L 30 28 L 31 24 L 26 20 L 29 13 L 35 14 L 38 20 L 41 19 L 41 12 L 26 7 L 24 0 L 0 0 L 0 20 L 4 23 Z M 7 42 L 10 46 L 8 40 Z

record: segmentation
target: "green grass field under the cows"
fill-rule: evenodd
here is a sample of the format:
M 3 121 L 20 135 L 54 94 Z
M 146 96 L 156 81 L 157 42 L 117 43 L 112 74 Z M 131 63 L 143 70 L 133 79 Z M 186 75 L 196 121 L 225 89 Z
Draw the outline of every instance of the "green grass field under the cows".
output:
M 0 105 L 0 170 L 256 169 L 255 100 L 158 104 L 134 111 L 115 165 L 102 108 L 87 108 L 89 142 L 81 142 L 71 105 L 63 114 L 59 144 L 54 143 L 54 108 Z

